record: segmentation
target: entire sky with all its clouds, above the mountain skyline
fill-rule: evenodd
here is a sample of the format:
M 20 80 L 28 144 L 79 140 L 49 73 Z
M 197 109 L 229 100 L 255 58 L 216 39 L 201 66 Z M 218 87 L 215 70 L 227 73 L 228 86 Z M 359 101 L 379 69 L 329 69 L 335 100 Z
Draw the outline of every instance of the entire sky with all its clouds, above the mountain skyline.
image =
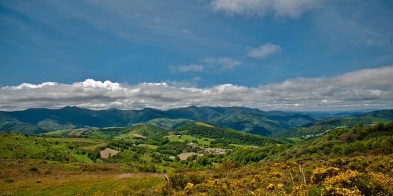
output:
M 0 0 L 0 110 L 393 108 L 392 0 Z

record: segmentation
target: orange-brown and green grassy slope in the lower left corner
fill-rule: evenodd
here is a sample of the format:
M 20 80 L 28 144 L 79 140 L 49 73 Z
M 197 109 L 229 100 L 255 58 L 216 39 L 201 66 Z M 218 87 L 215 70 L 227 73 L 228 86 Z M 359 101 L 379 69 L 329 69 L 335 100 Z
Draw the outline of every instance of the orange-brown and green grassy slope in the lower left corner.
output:
M 165 182 L 163 174 L 129 173 L 120 164 L 79 165 L 49 161 L 43 164 L 38 160 L 0 160 L 0 163 L 0 179 L 13 181 L 0 181 L 0 195 L 135 195 L 141 189 L 151 189 Z M 38 171 L 29 171 L 30 167 Z

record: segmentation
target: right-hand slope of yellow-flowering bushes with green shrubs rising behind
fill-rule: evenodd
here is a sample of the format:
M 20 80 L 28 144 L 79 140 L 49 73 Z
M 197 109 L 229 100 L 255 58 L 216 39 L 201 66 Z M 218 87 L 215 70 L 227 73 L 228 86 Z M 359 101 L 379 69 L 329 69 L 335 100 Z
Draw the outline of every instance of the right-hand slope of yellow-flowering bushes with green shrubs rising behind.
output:
M 162 195 L 361 196 L 393 194 L 393 123 L 354 126 L 294 146 L 234 150 L 202 172 L 177 171 Z

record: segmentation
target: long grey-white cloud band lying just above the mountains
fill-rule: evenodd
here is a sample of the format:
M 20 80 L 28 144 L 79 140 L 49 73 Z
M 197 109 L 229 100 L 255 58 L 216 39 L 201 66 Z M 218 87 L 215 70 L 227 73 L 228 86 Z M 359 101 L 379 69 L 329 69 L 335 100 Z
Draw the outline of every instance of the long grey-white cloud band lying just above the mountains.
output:
M 294 78 L 258 87 L 222 84 L 205 88 L 173 82 L 135 85 L 86 79 L 62 84 L 21 84 L 0 89 L 0 110 L 75 105 L 91 109 L 168 109 L 189 105 L 246 106 L 260 109 L 393 107 L 393 66 L 334 77 Z M 196 78 L 195 80 L 199 80 Z

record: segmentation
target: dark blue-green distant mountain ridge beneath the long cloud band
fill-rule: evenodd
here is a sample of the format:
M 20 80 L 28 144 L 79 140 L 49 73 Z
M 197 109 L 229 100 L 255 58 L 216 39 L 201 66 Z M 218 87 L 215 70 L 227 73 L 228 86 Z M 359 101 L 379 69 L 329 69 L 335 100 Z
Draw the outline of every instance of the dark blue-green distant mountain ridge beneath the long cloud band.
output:
M 34 108 L 23 111 L 0 112 L 0 130 L 38 134 L 56 129 L 78 127 L 129 126 L 154 119 L 186 119 L 205 121 L 258 135 L 296 128 L 321 118 L 315 115 L 282 111 L 262 111 L 246 107 L 197 107 L 170 110 L 145 108 L 141 110 L 90 110 L 75 106 L 60 109 Z M 162 123 L 162 122 L 161 122 Z M 164 124 L 164 123 L 162 123 Z

